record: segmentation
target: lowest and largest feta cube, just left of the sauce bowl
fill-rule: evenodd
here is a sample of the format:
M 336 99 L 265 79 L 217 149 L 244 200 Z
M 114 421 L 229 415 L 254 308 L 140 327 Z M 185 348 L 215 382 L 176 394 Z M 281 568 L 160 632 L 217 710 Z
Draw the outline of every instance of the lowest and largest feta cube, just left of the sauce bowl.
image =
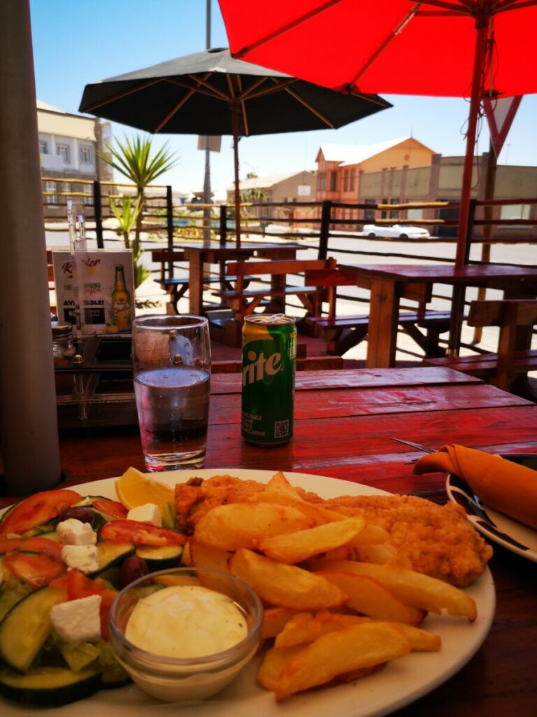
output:
M 50 609 L 49 617 L 59 637 L 65 642 L 99 640 L 101 600 L 100 595 L 89 595 L 54 605 Z

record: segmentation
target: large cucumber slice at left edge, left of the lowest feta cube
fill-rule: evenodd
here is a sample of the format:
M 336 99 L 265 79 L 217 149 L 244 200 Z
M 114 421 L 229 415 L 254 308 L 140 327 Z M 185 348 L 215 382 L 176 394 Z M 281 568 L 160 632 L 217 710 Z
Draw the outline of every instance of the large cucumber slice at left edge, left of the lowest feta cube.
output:
M 9 667 L 24 672 L 44 645 L 52 627 L 49 612 L 65 602 L 61 587 L 42 587 L 19 600 L 0 622 L 0 655 Z

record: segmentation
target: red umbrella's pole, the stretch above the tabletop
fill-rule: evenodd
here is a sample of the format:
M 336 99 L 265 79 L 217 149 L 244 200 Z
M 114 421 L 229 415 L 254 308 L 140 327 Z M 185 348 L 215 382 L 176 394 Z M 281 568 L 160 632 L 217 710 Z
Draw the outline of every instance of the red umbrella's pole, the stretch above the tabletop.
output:
M 463 166 L 463 186 L 460 194 L 459 225 L 457 236 L 457 253 L 455 267 L 458 269 L 467 263 L 468 250 L 468 218 L 470 216 L 470 194 L 472 191 L 473 156 L 475 148 L 475 134 L 478 126 L 479 105 L 481 102 L 481 77 L 485 48 L 488 37 L 489 18 L 485 14 L 475 22 L 477 39 L 475 41 L 475 54 L 473 65 L 472 96 L 470 98 L 470 113 L 468 115 L 468 131 L 466 133 L 466 154 Z

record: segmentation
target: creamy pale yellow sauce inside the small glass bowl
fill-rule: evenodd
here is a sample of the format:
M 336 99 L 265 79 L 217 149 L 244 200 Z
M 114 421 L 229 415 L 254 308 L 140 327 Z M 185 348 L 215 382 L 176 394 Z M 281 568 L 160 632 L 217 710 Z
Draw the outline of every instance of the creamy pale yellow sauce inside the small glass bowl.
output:
M 227 650 L 248 633 L 231 598 L 200 585 L 176 585 L 138 600 L 125 637 L 163 657 L 204 657 Z

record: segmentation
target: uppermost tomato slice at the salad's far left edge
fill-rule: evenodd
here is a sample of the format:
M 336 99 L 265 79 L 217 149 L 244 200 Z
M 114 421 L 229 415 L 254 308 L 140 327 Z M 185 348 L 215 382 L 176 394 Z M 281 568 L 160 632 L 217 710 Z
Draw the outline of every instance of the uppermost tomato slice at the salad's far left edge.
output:
M 77 503 L 80 498 L 81 495 L 76 490 L 66 488 L 34 493 L 4 514 L 4 518 L 0 521 L 0 538 L 5 538 L 9 533 L 21 535 L 30 528 L 48 523 Z

